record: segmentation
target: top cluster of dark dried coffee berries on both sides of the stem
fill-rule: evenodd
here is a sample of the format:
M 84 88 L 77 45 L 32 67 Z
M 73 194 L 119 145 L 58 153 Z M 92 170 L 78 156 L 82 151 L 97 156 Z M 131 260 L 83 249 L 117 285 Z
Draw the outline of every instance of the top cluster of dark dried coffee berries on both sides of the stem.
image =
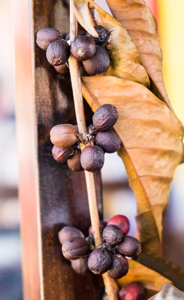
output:
M 69 34 L 62 34 L 53 28 L 43 28 L 37 32 L 36 43 L 46 50 L 46 58 L 58 72 L 63 71 L 63 67 L 70 53 L 72 56 L 82 61 L 85 71 L 89 75 L 97 75 L 106 72 L 110 65 L 110 58 L 105 45 L 108 42 L 110 33 L 102 26 L 94 26 L 98 37 L 93 37 L 87 32 L 82 32 L 69 41 Z

